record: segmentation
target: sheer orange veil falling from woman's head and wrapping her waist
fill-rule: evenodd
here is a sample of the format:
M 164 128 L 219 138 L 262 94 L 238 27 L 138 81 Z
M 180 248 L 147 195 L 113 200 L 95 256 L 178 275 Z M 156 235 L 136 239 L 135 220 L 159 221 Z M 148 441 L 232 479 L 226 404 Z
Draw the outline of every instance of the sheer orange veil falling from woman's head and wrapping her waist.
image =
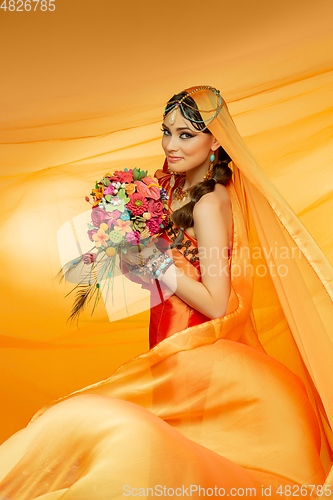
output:
M 216 108 L 216 95 L 209 90 L 192 97 L 199 110 Z M 189 408 L 199 411 L 194 392 L 177 383 L 183 380 L 183 363 L 196 363 L 196 350 L 199 353 L 201 347 L 219 339 L 258 350 L 261 344 L 303 381 L 320 425 L 325 484 L 333 485 L 332 267 L 248 150 L 225 102 L 209 129 L 232 158 L 228 189 L 234 236 L 227 314 L 165 339 L 108 379 L 42 408 L 31 421 L 60 401 L 101 394 L 136 403 L 200 443 L 195 425 L 188 431 L 182 424 Z M 183 363 L 176 362 L 180 354 Z M 208 401 L 214 384 L 214 377 L 205 380 L 205 398 L 200 403 L 203 418 L 211 411 Z M 167 404 L 170 398 L 172 404 Z M 219 452 L 217 444 L 214 451 Z

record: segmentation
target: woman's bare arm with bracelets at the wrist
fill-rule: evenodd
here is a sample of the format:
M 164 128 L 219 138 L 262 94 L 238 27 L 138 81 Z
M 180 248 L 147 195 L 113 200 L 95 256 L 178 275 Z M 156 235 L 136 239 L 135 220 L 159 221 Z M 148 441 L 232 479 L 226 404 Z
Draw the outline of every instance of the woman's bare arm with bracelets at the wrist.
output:
M 231 217 L 230 198 L 224 186 L 204 195 L 193 210 L 202 283 L 176 266 L 170 267 L 162 278 L 179 298 L 212 319 L 225 315 L 229 301 L 228 227 Z

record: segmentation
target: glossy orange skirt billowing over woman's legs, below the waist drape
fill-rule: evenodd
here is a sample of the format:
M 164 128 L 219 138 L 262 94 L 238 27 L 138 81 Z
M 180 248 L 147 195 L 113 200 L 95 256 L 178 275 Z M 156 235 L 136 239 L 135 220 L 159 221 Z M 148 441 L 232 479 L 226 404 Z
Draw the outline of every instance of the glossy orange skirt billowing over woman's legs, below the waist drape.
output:
M 300 496 L 302 485 L 310 498 L 309 485 L 324 482 L 315 413 L 301 381 L 281 363 L 218 340 L 179 352 L 163 370 L 174 365 L 182 377 L 177 370 L 157 392 L 173 387 L 191 396 L 190 405 L 168 398 L 159 416 L 83 394 L 17 432 L 0 447 L 1 500 L 150 498 L 164 487 L 170 494 L 163 490 L 163 498 L 183 490 L 192 498 L 204 490 L 214 498 L 223 491 L 245 496 L 246 488 L 259 498 L 285 498 Z

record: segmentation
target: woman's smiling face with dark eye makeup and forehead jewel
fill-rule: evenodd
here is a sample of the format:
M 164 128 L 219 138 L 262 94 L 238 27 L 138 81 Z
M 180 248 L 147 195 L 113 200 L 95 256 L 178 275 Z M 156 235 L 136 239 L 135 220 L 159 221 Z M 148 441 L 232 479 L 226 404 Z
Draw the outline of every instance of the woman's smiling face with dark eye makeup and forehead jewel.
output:
M 176 111 L 174 123 L 170 123 L 172 111 L 162 123 L 162 147 L 167 157 L 170 170 L 187 172 L 203 164 L 210 163 L 212 151 L 219 147 L 212 134 L 195 131 L 189 120 L 186 120 L 179 109 Z

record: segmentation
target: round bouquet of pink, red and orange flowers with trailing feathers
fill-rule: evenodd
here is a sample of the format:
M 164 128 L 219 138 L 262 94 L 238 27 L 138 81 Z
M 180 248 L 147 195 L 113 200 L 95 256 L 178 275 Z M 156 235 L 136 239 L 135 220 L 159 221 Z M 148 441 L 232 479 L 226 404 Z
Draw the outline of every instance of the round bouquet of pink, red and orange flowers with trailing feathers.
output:
M 169 224 L 166 190 L 147 171 L 137 168 L 105 174 L 85 199 L 92 205 L 87 234 L 94 246 L 69 262 L 65 273 L 61 273 L 60 279 L 66 278 L 79 264 L 89 266 L 88 273 L 72 290 L 77 291 L 77 296 L 69 319 L 78 318 L 87 299 L 90 301 L 92 297 L 95 297 L 94 311 L 102 284 L 103 289 L 107 287 L 107 294 L 110 285 L 113 292 L 117 255 L 121 259 L 129 248 L 151 244 Z

